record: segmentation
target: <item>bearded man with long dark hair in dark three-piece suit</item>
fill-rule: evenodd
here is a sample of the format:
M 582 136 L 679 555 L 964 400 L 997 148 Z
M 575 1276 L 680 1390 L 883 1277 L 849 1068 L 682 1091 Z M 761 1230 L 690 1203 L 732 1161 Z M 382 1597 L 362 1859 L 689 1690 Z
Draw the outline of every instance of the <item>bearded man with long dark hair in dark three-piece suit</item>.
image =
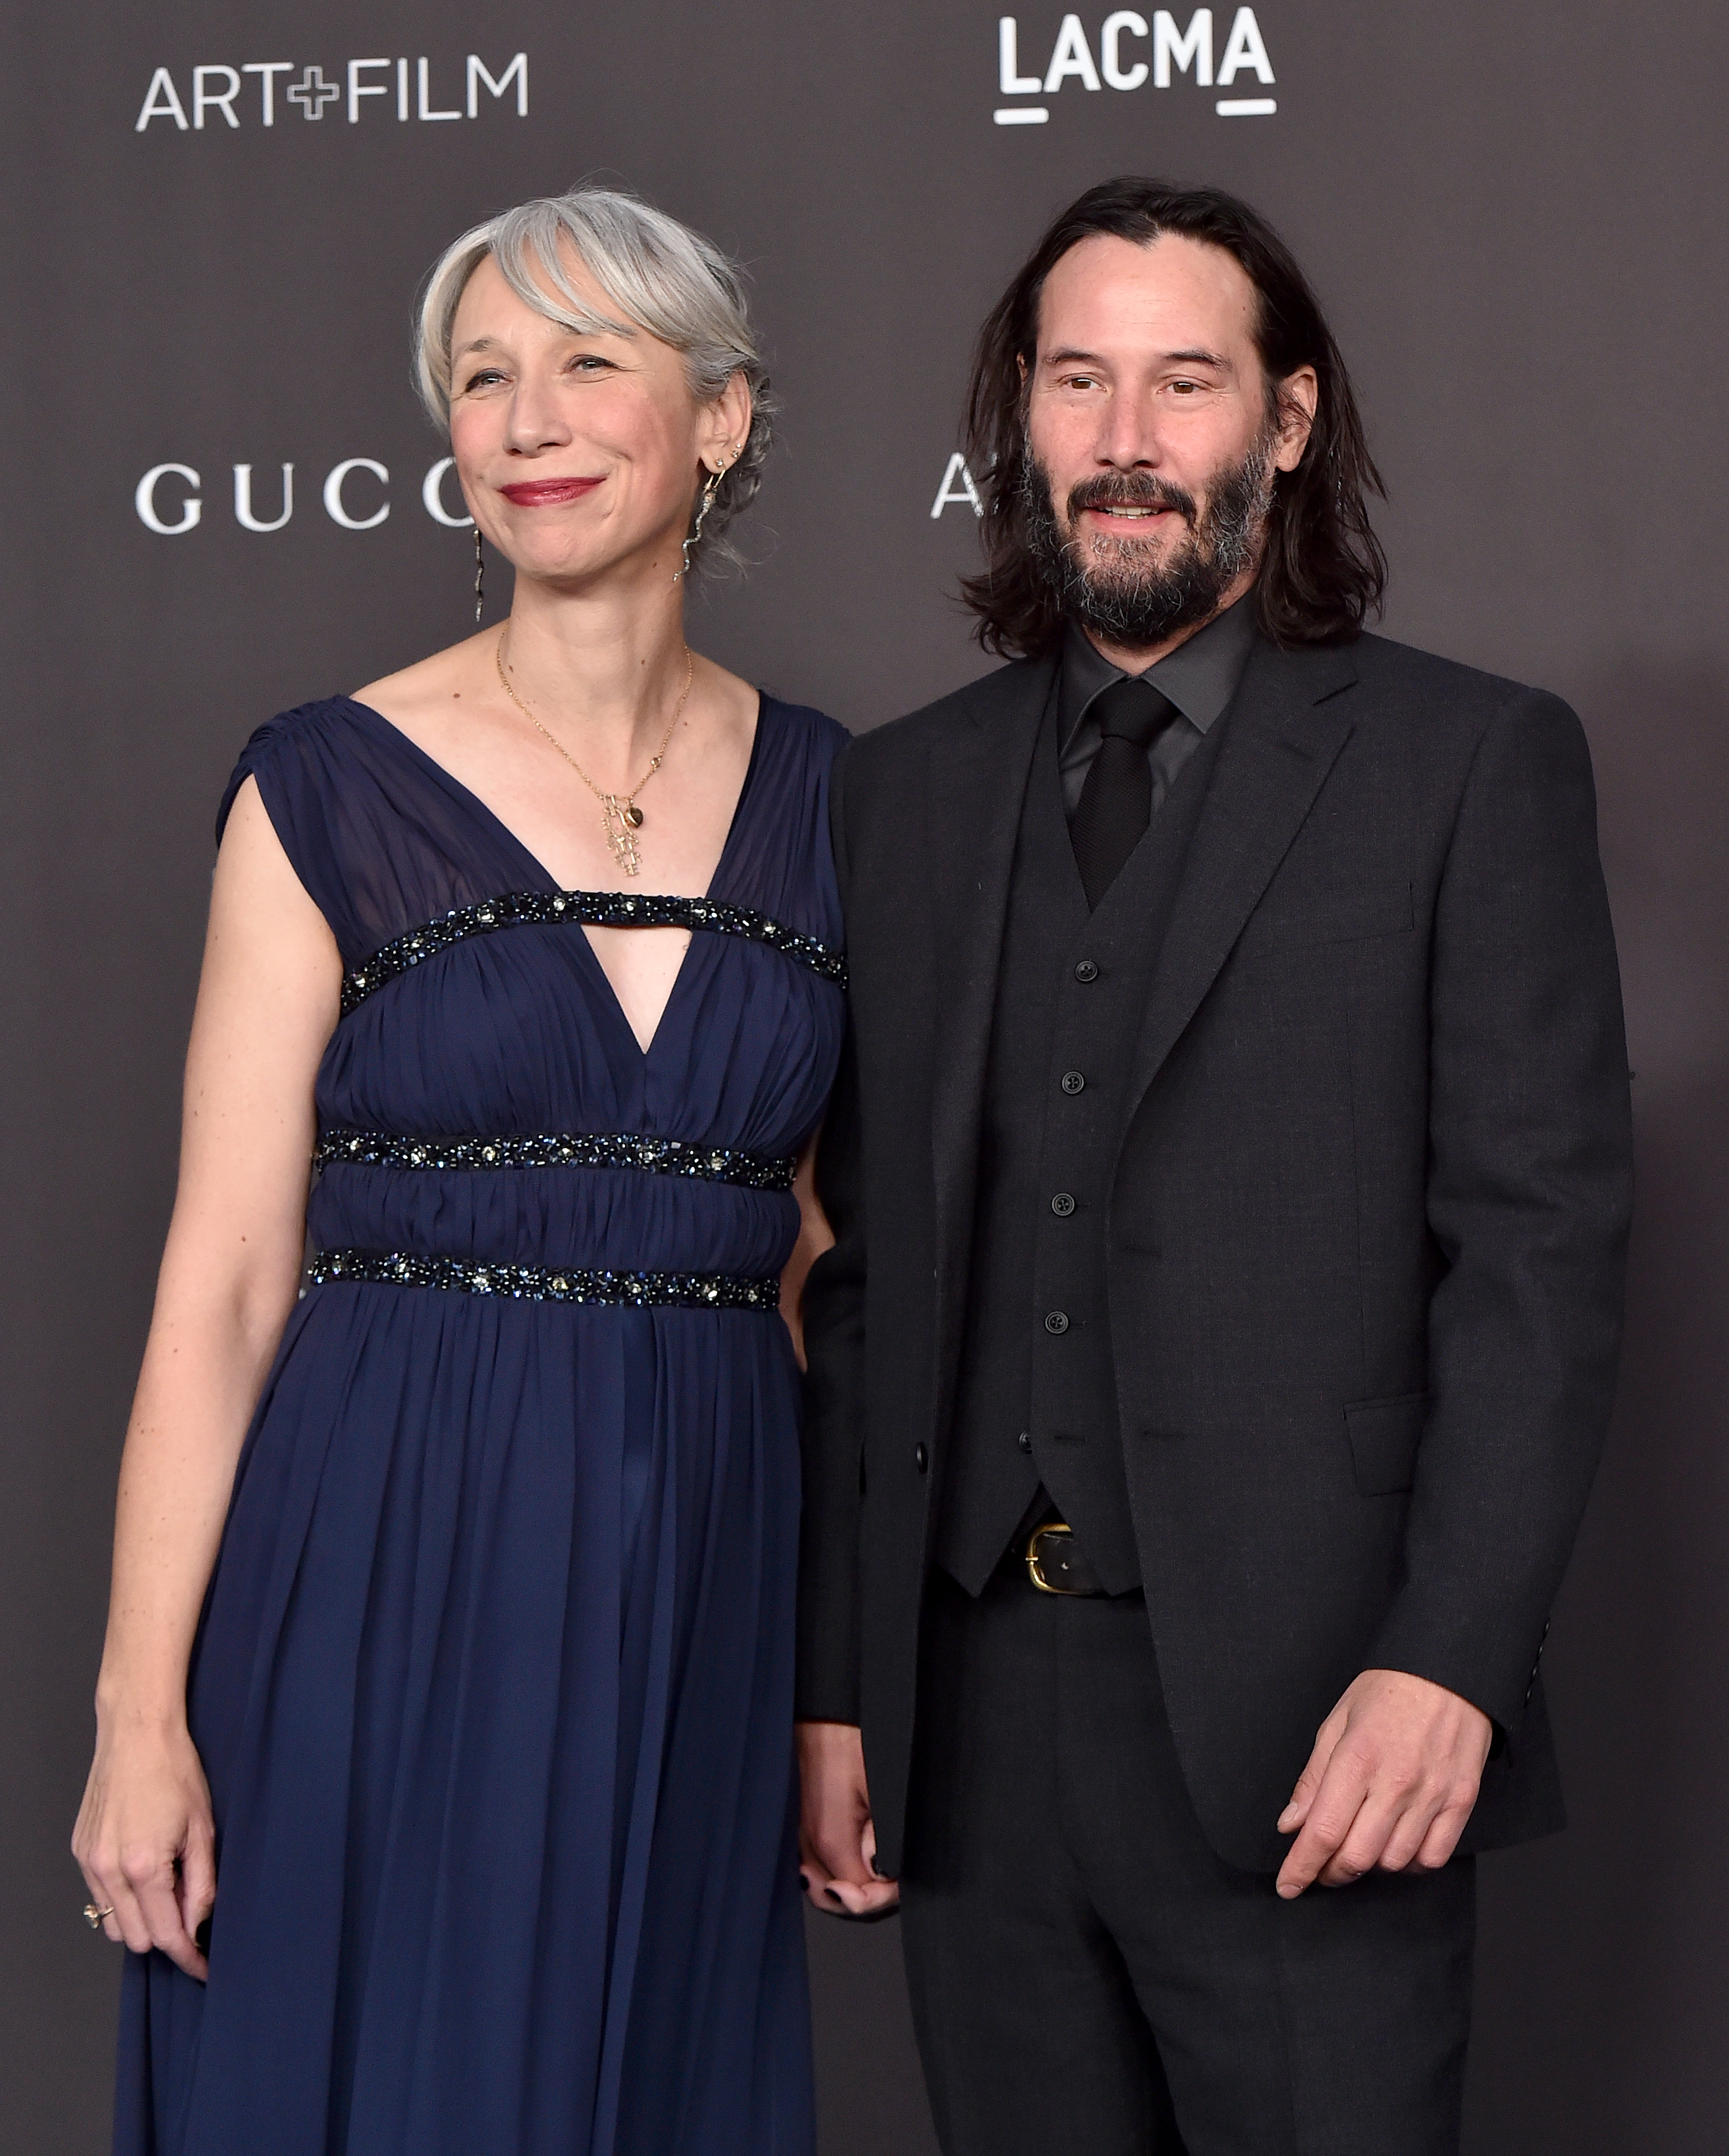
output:
M 834 800 L 804 1876 L 899 1893 L 949 2156 L 1440 2156 L 1617 1354 L 1585 737 L 1360 634 L 1350 379 L 1231 196 L 1067 209 L 970 457 L 1015 664 Z

